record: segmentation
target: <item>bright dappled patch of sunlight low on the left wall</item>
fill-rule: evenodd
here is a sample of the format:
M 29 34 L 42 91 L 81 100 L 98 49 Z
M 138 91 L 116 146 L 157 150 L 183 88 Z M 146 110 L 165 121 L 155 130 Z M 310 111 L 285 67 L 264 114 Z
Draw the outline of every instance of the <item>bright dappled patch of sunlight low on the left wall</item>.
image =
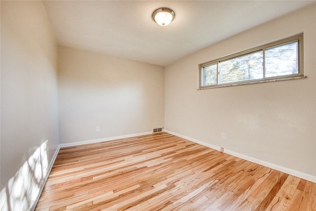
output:
M 48 170 L 47 140 L 9 179 L 0 193 L 1 211 L 29 211 L 35 207 Z

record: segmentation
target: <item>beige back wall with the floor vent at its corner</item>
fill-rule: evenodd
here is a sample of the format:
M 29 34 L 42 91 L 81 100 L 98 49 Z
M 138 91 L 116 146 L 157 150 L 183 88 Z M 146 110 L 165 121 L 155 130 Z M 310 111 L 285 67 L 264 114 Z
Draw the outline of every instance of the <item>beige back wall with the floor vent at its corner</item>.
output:
M 58 89 L 60 143 L 148 132 L 164 125 L 161 66 L 60 47 Z

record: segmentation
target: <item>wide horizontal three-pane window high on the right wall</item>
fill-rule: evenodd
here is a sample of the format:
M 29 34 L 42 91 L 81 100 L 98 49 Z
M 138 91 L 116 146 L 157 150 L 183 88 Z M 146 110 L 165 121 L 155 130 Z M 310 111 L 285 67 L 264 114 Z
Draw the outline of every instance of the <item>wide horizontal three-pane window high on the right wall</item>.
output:
M 199 65 L 199 88 L 304 78 L 303 34 Z

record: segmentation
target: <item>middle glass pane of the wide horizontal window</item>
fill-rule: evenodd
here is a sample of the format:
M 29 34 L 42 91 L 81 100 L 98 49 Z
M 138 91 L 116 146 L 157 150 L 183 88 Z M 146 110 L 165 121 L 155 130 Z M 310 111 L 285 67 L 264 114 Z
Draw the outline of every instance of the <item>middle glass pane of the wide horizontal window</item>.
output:
M 263 53 L 257 51 L 220 63 L 220 84 L 263 79 Z

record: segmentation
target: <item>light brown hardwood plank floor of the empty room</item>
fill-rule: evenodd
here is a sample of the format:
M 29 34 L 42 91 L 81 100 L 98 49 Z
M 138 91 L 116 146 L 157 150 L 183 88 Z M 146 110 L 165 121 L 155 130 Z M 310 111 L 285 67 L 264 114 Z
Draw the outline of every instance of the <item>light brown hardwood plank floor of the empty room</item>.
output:
M 59 151 L 37 211 L 316 211 L 316 183 L 168 134 Z

